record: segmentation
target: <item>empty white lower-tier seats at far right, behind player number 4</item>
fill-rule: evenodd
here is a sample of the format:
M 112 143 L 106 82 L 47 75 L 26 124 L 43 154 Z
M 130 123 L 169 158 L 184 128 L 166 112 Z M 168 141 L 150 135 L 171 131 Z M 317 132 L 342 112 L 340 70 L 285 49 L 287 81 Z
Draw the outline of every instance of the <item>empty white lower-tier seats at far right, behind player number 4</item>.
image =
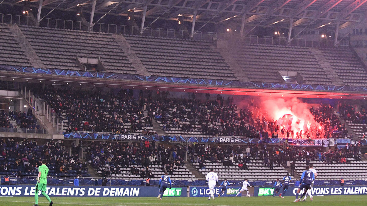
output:
M 353 158 L 348 158 L 350 163 L 335 164 L 323 163 L 321 161 L 311 161 L 313 168 L 317 170 L 317 180 L 365 180 L 367 178 L 367 161 L 354 161 Z M 296 161 L 296 172 L 302 175 L 305 171 L 306 162 Z

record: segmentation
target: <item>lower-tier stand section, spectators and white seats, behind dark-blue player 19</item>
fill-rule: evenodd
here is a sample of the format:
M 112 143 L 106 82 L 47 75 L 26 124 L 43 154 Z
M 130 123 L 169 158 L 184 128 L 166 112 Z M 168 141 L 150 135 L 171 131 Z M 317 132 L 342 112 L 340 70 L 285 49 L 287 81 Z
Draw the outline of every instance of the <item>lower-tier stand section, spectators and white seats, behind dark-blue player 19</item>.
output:
M 155 141 L 134 144 L 92 141 L 86 144 L 86 158 L 98 174 L 111 179 L 158 179 L 167 171 L 177 180 L 196 180 L 184 165 L 182 148 L 170 150 L 159 145 L 156 149 L 155 145 Z

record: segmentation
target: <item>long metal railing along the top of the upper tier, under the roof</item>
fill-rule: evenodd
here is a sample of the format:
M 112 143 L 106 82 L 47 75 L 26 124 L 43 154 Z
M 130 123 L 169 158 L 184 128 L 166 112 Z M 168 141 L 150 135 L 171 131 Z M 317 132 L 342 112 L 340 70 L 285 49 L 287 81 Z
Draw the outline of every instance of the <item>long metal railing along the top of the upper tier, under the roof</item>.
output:
M 12 14 L 0 14 L 0 23 L 18 24 L 35 26 L 36 18 L 31 16 L 21 16 Z M 57 29 L 70 29 L 86 31 L 88 27 L 83 26 L 84 22 L 70 21 L 63 19 L 51 19 L 44 18 L 40 22 L 41 27 L 57 28 Z M 176 29 L 161 29 L 161 28 L 146 28 L 142 34 L 140 34 L 140 27 L 96 23 L 93 28 L 93 32 L 103 32 L 110 34 L 123 34 L 123 35 L 142 35 L 149 37 L 162 37 L 162 38 L 182 38 L 190 39 L 190 31 L 176 30 Z M 215 33 L 215 32 L 196 32 L 193 39 L 200 41 L 212 41 L 212 40 L 229 40 L 231 38 L 238 39 L 238 33 Z M 265 45 L 283 45 L 283 46 L 297 46 L 297 47 L 334 47 L 333 40 L 320 39 L 312 41 L 303 38 L 293 38 L 290 44 L 288 44 L 287 37 L 268 37 L 268 36 L 252 36 L 247 35 L 243 37 L 243 43 L 245 44 L 265 44 Z M 337 46 L 348 46 L 349 41 L 341 41 Z

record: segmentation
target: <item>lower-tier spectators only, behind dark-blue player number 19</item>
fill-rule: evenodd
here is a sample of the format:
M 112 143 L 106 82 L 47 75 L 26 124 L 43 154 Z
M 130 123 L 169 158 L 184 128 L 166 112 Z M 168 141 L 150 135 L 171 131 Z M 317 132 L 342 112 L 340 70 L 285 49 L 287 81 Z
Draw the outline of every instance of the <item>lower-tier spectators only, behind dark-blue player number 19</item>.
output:
M 130 168 L 131 174 L 140 177 L 154 177 L 150 165 L 161 165 L 162 171 L 174 174 L 175 169 L 181 168 L 185 148 L 165 148 L 155 141 L 140 143 L 124 142 L 88 142 L 85 144 L 86 159 L 91 161 L 95 170 L 101 170 L 102 176 L 111 177 L 121 174 L 120 168 Z M 100 169 L 103 168 L 103 169 Z

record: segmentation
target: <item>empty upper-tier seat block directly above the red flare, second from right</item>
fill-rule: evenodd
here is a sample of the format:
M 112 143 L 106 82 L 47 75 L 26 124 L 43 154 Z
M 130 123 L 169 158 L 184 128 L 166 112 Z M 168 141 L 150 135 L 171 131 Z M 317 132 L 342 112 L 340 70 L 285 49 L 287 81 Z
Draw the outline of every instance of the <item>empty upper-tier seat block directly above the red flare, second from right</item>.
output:
M 305 83 L 331 84 L 307 48 L 241 45 L 233 56 L 252 81 L 284 82 L 278 70 L 297 71 Z

